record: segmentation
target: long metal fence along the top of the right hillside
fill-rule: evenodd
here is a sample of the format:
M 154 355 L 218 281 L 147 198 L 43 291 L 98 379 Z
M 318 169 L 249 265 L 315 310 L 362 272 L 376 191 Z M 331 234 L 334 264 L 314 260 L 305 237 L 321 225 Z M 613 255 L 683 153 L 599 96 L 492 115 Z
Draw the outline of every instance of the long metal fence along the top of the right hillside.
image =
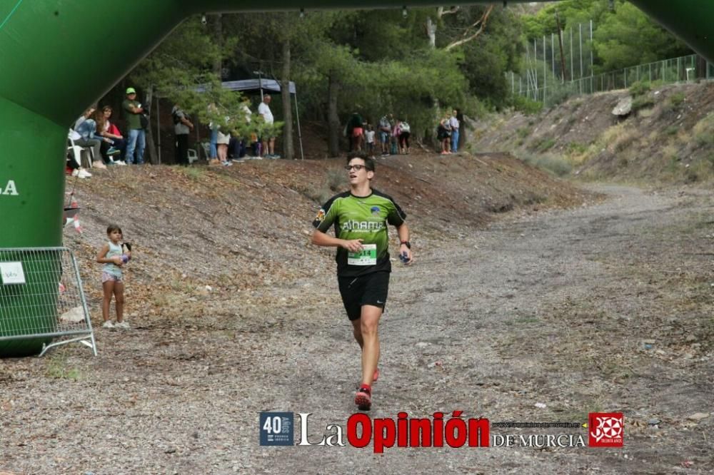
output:
M 543 85 L 543 79 L 540 78 L 538 87 L 534 86 L 534 81 L 523 81 L 523 78 L 515 73 L 507 74 L 506 80 L 511 83 L 513 95 L 518 94 L 533 101 L 552 105 L 559 103 L 563 98 L 577 94 L 627 89 L 638 81 L 670 84 L 698 79 L 712 80 L 714 79 L 714 64 L 708 63 L 701 56 L 692 54 L 565 82 L 555 76 L 550 76 L 548 71 L 546 72 L 548 75 L 545 77 L 545 85 Z

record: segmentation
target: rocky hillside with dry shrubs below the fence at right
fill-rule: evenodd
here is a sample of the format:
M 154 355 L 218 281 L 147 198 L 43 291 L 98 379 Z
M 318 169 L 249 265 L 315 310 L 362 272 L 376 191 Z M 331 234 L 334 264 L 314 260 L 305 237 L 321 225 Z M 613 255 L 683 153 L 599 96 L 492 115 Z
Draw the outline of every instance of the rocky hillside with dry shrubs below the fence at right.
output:
M 618 102 L 632 95 L 633 111 L 614 116 Z M 474 135 L 474 150 L 526 160 L 548 155 L 593 180 L 708 181 L 714 178 L 714 83 L 580 96 L 537 116 L 488 118 Z

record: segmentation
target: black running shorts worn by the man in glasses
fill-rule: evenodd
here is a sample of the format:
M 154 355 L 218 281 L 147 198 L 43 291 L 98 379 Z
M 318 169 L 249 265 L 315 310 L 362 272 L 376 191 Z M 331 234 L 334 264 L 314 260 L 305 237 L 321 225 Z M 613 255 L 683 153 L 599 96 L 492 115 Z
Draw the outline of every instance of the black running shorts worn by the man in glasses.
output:
M 350 320 L 357 320 L 362 313 L 362 305 L 382 307 L 387 302 L 389 272 L 371 272 L 360 277 L 338 277 L 342 303 Z

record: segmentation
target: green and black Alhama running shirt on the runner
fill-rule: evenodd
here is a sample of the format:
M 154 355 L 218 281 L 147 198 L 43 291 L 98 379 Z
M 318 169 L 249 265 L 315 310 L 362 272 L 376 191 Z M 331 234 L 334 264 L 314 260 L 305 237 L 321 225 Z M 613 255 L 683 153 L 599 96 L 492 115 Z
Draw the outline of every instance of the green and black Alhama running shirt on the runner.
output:
M 333 196 L 320 208 L 313 226 L 327 233 L 334 225 L 338 239 L 363 240 L 362 252 L 337 248 L 337 275 L 352 277 L 380 270 L 391 271 L 387 225 L 401 226 L 405 218 L 399 205 L 384 193 L 372 190 L 370 195 L 359 197 L 346 191 Z

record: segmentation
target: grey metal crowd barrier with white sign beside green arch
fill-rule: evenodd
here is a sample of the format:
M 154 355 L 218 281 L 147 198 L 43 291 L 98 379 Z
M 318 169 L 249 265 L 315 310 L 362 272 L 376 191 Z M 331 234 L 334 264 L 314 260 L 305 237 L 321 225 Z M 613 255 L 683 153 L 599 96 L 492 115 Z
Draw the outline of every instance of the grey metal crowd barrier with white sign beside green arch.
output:
M 96 356 L 72 252 L 66 247 L 0 249 L 0 356 L 41 356 L 71 342 L 85 344 Z

